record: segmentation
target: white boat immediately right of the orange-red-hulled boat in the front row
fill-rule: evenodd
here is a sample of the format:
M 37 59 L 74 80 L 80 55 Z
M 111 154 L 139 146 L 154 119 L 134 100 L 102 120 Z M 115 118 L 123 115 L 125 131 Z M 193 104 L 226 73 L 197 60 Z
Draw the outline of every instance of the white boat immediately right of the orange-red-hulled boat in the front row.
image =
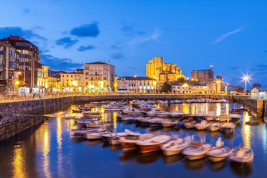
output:
M 190 142 L 191 142 L 190 136 L 186 136 L 184 137 L 184 139 L 179 138 L 178 136 L 178 138 L 170 140 L 165 144 L 163 144 L 162 146 L 160 146 L 160 149 L 162 150 L 164 155 L 171 156 L 181 153 L 182 150 L 186 148 Z

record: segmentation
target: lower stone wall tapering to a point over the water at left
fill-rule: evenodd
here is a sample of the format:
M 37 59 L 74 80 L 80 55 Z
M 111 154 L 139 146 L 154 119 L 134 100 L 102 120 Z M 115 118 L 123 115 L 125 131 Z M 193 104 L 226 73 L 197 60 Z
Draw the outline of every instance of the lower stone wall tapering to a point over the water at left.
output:
M 44 115 L 0 113 L 0 141 L 5 140 L 22 130 L 45 121 L 50 117 Z

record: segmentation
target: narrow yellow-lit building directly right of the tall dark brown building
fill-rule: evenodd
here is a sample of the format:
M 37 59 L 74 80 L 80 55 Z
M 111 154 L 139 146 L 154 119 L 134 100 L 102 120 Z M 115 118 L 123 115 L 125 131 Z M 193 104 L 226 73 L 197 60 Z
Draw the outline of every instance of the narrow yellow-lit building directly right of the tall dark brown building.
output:
M 40 93 L 46 93 L 48 88 L 48 65 L 38 63 L 37 88 Z

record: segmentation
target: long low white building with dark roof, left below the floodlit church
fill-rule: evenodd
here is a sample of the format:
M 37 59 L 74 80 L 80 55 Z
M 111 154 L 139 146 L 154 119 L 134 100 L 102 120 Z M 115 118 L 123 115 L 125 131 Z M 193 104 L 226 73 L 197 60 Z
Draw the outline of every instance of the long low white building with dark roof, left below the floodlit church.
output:
M 121 77 L 118 79 L 118 91 L 138 93 L 156 93 L 156 80 L 149 77 Z

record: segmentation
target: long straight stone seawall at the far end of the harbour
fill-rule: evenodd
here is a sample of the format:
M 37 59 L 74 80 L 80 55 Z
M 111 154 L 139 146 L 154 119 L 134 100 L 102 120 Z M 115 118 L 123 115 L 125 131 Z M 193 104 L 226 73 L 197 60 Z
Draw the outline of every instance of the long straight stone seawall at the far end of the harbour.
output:
M 188 100 L 188 99 L 226 99 L 230 102 L 243 103 L 246 96 L 241 95 L 87 95 L 87 96 L 73 96 L 71 103 L 78 104 L 80 102 L 98 102 L 98 101 L 117 101 L 117 100 Z

